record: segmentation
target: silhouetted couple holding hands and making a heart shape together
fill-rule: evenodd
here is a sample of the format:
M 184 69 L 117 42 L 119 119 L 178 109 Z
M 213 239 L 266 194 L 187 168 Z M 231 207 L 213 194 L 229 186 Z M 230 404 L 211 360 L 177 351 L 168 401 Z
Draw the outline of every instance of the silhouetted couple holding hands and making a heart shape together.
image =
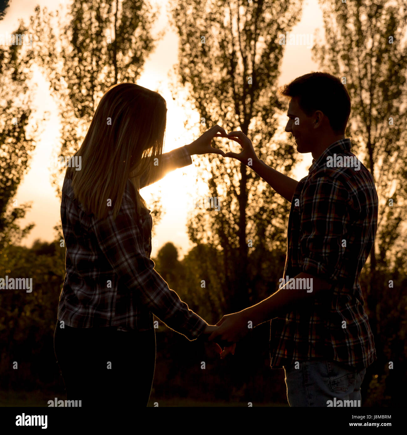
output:
M 280 94 L 289 100 L 285 130 L 299 153 L 313 156 L 300 181 L 262 162 L 241 131 L 218 125 L 162 154 L 164 98 L 132 83 L 104 94 L 74 154 L 81 170 L 68 167 L 62 189 L 66 276 L 54 347 L 68 400 L 146 406 L 155 370 L 154 314 L 189 340 L 205 335 L 222 358 L 253 333 L 248 325 L 271 320 L 270 365 L 285 370 L 290 406 L 360 401 L 366 368 L 376 359 L 358 281 L 377 229 L 373 177 L 363 164 L 350 164 L 358 162 L 345 138 L 350 98 L 339 79 L 306 74 Z M 211 147 L 216 137 L 236 141 L 242 152 Z M 191 164 L 191 155 L 207 153 L 245 163 L 291 202 L 279 290 L 270 283 L 269 298 L 217 325 L 188 309 L 154 270 L 152 219 L 139 193 Z

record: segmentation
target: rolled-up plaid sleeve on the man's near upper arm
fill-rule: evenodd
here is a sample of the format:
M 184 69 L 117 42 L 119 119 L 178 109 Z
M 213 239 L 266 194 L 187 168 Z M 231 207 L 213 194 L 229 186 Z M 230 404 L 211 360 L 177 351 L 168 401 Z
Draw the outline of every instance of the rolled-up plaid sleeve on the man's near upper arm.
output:
M 324 175 L 312 180 L 302 197 L 301 271 L 327 281 L 346 280 L 346 250 L 351 249 L 348 230 L 353 207 L 349 191 L 340 181 Z

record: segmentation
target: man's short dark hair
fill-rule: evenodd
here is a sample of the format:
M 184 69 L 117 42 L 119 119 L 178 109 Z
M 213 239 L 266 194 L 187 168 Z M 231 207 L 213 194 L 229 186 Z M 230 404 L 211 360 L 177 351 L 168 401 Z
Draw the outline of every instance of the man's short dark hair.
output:
M 279 89 L 289 100 L 299 97 L 299 107 L 307 116 L 316 110 L 326 115 L 336 134 L 344 134 L 350 115 L 350 97 L 337 77 L 323 72 L 297 77 Z

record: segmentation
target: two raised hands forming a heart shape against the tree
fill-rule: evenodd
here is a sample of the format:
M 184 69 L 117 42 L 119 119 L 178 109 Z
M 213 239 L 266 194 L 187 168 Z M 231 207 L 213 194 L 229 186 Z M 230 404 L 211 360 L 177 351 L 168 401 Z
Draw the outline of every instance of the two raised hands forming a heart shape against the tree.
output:
M 237 142 L 242 147 L 242 151 L 240 153 L 225 153 L 222 150 L 212 147 L 212 139 L 215 137 L 227 137 L 232 141 Z M 256 158 L 252 141 L 250 141 L 242 131 L 232 131 L 229 134 L 226 134 L 225 130 L 222 127 L 219 127 L 219 125 L 215 125 L 208 131 L 205 131 L 205 133 L 198 137 L 196 141 L 193 141 L 191 144 L 186 146 L 190 155 L 208 153 L 220 154 L 222 157 L 232 157 L 246 164 L 249 158 Z

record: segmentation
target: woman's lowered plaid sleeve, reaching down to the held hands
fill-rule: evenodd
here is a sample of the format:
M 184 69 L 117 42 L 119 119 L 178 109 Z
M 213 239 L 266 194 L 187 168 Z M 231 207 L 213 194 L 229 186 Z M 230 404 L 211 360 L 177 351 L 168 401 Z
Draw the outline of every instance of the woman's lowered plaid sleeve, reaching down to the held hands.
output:
M 137 292 L 141 303 L 169 328 L 185 335 L 188 340 L 198 338 L 207 323 L 190 310 L 154 270 L 154 261 L 143 249 L 143 236 L 137 222 L 135 204 L 125 191 L 116 219 L 109 210 L 108 217 L 103 220 L 95 218 L 92 227 L 99 246 L 118 274 L 119 283 Z

